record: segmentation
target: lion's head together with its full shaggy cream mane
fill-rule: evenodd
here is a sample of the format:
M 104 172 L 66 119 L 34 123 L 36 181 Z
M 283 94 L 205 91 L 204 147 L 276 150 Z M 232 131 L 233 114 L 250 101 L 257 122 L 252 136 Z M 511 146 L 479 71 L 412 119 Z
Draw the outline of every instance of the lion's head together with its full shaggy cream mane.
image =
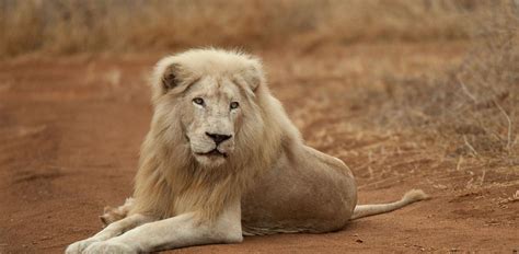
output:
M 216 218 L 300 136 L 269 92 L 260 60 L 221 49 L 161 59 L 131 212 Z M 287 160 L 292 153 L 287 153 Z M 174 200 L 174 201 L 163 201 Z

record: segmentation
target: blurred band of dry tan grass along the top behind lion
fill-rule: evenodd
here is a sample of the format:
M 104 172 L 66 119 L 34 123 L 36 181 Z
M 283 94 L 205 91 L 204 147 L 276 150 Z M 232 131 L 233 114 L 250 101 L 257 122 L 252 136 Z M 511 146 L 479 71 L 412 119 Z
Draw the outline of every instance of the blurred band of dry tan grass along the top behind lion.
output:
M 0 57 L 466 38 L 495 1 L 0 0 Z

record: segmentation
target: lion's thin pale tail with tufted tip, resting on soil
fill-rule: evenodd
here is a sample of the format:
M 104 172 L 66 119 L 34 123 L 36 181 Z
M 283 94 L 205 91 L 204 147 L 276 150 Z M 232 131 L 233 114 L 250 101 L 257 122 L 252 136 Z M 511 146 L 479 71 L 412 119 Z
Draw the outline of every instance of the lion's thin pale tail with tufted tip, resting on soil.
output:
M 393 211 L 412 203 L 427 198 L 428 196 L 422 189 L 411 189 L 399 201 L 377 205 L 357 205 L 355 207 L 354 215 L 351 216 L 351 220 Z

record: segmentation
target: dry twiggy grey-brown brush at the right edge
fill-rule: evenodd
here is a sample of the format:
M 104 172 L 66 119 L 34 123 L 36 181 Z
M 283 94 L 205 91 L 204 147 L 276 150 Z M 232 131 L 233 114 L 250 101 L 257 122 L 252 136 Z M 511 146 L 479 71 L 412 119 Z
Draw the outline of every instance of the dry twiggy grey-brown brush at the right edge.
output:
M 519 164 L 519 9 L 504 4 L 474 26 L 462 65 L 431 77 L 388 77 L 354 97 L 371 105 L 369 123 L 407 128 L 447 154 Z

